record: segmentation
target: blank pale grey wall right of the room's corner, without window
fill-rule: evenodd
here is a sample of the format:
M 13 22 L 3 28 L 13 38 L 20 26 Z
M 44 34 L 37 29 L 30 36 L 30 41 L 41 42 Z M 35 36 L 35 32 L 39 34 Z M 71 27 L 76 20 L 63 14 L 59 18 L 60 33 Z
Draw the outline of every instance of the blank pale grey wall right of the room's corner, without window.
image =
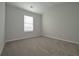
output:
M 79 43 L 79 7 L 61 5 L 43 15 L 43 35 Z

